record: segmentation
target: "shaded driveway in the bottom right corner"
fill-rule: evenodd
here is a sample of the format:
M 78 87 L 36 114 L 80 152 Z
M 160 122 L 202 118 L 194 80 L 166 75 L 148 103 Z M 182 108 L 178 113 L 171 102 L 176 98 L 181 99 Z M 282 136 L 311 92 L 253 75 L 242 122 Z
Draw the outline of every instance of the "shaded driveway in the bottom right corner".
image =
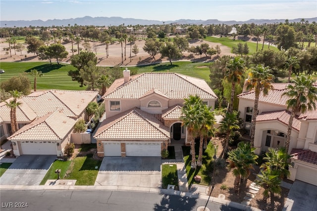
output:
M 283 211 L 317 211 L 317 186 L 295 180 Z

